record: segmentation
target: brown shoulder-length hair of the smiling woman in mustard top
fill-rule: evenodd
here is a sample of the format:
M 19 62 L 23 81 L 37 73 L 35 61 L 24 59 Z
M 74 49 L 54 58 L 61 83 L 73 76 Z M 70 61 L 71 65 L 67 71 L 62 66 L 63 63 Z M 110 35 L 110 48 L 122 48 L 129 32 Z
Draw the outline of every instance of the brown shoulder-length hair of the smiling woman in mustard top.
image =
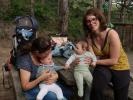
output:
M 89 33 L 91 35 L 92 31 L 91 29 L 86 25 L 86 17 L 88 15 L 94 15 L 100 22 L 100 31 L 103 31 L 107 28 L 107 22 L 106 22 L 106 18 L 104 16 L 104 14 L 102 13 L 102 11 L 100 11 L 97 8 L 91 8 L 89 10 L 87 10 L 87 12 L 85 13 L 84 17 L 83 17 L 83 29 L 85 32 L 85 35 L 88 36 Z

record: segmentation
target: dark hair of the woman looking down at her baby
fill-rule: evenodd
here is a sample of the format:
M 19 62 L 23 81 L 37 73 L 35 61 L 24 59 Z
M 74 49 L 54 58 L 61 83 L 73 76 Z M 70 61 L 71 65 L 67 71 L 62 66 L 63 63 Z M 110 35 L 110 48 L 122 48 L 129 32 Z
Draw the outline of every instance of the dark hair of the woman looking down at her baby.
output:
M 36 38 L 31 46 L 31 52 L 43 53 L 51 49 L 51 41 L 49 37 Z

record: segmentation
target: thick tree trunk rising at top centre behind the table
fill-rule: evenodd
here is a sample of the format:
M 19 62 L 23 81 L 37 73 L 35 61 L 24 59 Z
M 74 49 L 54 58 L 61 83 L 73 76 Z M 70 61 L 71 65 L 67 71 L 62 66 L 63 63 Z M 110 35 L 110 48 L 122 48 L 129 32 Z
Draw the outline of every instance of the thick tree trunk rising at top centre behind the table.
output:
M 61 35 L 66 35 L 68 32 L 68 0 L 58 0 L 58 7 L 60 33 Z

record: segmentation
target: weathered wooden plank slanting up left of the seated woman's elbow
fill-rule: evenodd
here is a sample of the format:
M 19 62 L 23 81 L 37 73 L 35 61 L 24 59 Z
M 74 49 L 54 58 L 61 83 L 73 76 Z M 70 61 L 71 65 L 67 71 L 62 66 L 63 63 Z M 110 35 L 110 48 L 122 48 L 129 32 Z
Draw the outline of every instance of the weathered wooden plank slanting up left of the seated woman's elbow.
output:
M 26 100 L 22 92 L 18 71 L 13 67 L 10 71 L 16 100 Z

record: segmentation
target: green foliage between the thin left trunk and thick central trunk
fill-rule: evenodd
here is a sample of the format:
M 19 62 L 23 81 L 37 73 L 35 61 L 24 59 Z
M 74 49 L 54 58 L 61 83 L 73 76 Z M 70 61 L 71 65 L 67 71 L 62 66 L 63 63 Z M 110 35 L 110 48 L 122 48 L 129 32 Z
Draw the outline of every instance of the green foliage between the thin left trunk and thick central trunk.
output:
M 38 5 L 40 4 L 38 3 Z M 45 4 L 41 5 L 41 7 L 42 8 L 39 9 L 37 8 L 40 11 L 35 13 L 40 21 L 41 29 L 45 29 L 46 31 L 50 31 L 51 33 L 58 33 L 58 2 L 56 0 L 45 0 Z

